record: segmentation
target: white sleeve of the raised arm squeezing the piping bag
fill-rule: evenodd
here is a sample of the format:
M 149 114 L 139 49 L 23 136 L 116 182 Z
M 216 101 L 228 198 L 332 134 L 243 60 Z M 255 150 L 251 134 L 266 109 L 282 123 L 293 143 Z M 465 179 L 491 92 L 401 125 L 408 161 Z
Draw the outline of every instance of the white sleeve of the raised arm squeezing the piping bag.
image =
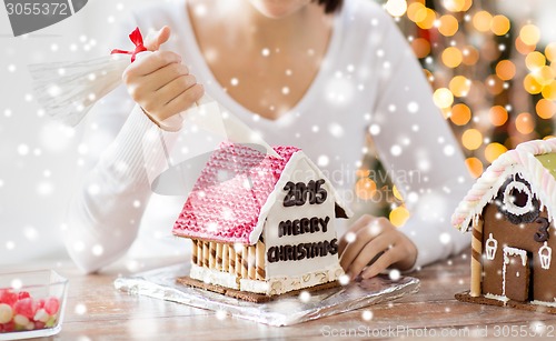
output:
M 98 132 L 89 134 L 85 146 L 109 138 L 113 128 L 97 127 Z M 145 166 L 152 161 L 143 153 L 143 136 L 158 129 L 155 127 L 136 107 L 76 188 L 68 210 L 66 247 L 85 272 L 97 271 L 117 260 L 137 237 L 151 194 Z

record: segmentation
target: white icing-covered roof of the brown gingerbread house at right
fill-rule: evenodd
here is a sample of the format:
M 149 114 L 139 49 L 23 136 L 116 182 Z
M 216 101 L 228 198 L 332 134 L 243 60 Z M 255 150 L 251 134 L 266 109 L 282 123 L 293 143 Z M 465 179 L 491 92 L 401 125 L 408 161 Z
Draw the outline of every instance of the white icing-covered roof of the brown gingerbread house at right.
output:
M 515 173 L 524 177 L 532 191 L 540 199 L 550 220 L 556 217 L 555 169 L 547 168 L 536 157 L 556 153 L 556 139 L 534 140 L 520 143 L 498 157 L 475 182 L 459 203 L 451 224 L 465 232 L 471 229 L 471 220 L 478 218 L 483 208 L 496 195 L 505 179 Z M 555 164 L 556 167 L 556 164 Z

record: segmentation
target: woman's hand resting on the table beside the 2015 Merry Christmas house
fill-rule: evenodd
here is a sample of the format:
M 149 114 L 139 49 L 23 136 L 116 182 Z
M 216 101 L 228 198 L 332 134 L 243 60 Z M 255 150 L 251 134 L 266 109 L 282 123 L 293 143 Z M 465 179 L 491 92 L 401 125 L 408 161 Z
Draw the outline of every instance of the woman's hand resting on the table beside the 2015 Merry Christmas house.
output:
M 388 267 L 409 270 L 417 260 L 417 248 L 388 219 L 366 214 L 341 238 L 339 254 L 351 280 L 361 271 L 368 279 Z

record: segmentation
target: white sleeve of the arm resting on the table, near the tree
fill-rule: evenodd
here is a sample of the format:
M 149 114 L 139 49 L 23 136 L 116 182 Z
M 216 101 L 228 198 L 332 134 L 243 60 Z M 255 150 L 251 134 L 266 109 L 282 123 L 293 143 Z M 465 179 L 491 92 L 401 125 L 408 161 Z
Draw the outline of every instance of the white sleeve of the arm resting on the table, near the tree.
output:
M 389 27 L 377 64 L 379 94 L 370 131 L 410 212 L 400 230 L 417 247 L 416 269 L 469 245 L 469 235 L 450 225 L 450 215 L 467 192 L 470 177 L 406 39 L 390 18 L 384 22 Z

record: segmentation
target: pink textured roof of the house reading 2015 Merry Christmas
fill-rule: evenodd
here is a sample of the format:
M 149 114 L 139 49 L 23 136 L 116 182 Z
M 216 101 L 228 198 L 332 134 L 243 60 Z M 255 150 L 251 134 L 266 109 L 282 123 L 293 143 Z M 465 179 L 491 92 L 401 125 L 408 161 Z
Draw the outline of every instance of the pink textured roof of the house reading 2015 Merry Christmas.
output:
M 249 244 L 262 205 L 291 156 L 300 151 L 294 147 L 274 150 L 282 159 L 241 144 L 222 143 L 195 183 L 173 234 Z

